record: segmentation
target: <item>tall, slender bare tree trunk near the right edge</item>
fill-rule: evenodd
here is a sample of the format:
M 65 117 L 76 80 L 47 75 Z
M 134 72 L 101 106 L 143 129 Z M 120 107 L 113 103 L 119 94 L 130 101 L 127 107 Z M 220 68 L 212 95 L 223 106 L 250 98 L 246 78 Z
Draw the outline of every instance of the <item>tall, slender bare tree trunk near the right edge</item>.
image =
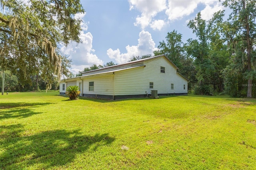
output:
M 245 10 L 245 2 L 243 0 L 243 10 Z M 252 71 L 251 66 L 251 44 L 250 44 L 250 28 L 248 23 L 248 16 L 246 15 L 244 17 L 245 21 L 245 27 L 246 27 L 246 50 L 247 50 L 247 67 L 248 71 Z M 248 79 L 248 85 L 247 85 L 247 97 L 252 97 L 252 79 Z

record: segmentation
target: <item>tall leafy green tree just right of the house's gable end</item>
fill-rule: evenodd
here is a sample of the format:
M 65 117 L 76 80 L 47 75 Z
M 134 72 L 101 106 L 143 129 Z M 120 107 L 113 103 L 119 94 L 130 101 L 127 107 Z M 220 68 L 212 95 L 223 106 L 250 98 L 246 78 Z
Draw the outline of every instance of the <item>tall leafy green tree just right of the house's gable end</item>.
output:
M 196 78 L 198 85 L 195 89 L 197 94 L 211 95 L 213 89 L 216 90 L 216 78 L 221 75 L 222 68 L 226 67 L 225 63 L 221 67 L 220 50 L 225 48 L 221 45 L 218 26 L 222 23 L 223 11 L 216 12 L 209 21 L 201 18 L 200 12 L 194 20 L 190 20 L 188 27 L 196 34 L 196 40 L 188 40 L 187 53 L 194 58 L 196 66 Z M 219 61 L 220 60 L 220 61 Z M 219 90 L 222 90 L 223 81 L 218 80 Z

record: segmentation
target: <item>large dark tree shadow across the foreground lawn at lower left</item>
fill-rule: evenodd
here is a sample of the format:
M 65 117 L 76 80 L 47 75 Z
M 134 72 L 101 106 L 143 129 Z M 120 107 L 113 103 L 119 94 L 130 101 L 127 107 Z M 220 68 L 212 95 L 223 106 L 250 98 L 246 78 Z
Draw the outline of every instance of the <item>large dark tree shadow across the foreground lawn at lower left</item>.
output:
M 107 133 L 83 135 L 80 130 L 50 130 L 22 136 L 23 125 L 0 126 L 0 169 L 48 169 L 72 162 L 76 154 L 89 148 L 111 144 L 115 138 Z

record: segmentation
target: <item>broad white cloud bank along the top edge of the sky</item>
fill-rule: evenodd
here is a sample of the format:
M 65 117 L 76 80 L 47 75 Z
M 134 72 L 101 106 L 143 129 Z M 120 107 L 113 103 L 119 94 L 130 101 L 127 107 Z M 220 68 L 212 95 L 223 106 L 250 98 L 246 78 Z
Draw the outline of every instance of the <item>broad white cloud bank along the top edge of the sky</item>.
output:
M 167 24 L 166 16 L 170 21 L 182 19 L 198 10 L 199 6 L 203 6 L 203 9 L 200 8 L 205 20 L 212 18 L 214 12 L 224 9 L 219 0 L 129 0 L 129 4 L 130 10 L 136 9 L 141 12 L 134 25 L 142 29 L 150 26 L 153 30 L 161 30 Z M 166 16 L 156 20 L 157 14 L 164 10 Z

